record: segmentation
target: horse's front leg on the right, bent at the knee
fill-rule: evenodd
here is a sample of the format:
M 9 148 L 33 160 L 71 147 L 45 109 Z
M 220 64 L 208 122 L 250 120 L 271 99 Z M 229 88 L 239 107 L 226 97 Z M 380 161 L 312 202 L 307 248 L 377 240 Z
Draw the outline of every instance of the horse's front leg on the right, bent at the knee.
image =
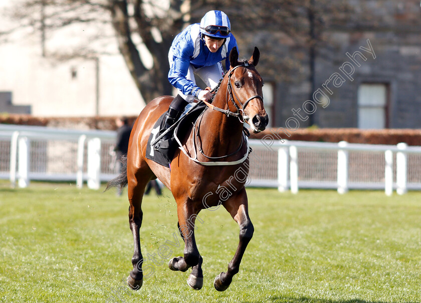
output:
M 223 205 L 240 226 L 240 242 L 233 259 L 228 264 L 228 271 L 221 272 L 215 278 L 214 286 L 219 291 L 226 290 L 230 286 L 233 276 L 239 271 L 241 259 L 254 232 L 254 227 L 249 217 L 247 194 L 244 187 L 236 196 L 225 201 Z

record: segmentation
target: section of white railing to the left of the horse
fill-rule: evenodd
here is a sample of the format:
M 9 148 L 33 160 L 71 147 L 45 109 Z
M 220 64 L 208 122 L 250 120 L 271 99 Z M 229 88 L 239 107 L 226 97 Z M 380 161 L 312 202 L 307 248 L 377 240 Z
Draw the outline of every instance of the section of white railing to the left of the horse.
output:
M 0 178 L 19 187 L 49 180 L 97 189 L 116 175 L 115 140 L 112 131 L 0 125 Z

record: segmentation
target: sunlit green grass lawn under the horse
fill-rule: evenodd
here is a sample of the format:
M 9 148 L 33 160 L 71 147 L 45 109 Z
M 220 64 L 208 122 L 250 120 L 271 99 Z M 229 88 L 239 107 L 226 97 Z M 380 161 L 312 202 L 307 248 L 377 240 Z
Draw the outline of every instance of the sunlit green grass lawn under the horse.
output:
M 173 272 L 157 258 L 162 263 L 131 291 L 122 281 L 133 254 L 125 196 L 66 183 L 11 189 L 0 181 L 0 301 L 106 302 L 114 294 L 110 302 L 421 302 L 421 193 L 248 194 L 255 233 L 225 292 L 213 281 L 227 270 L 239 230 L 222 207 L 196 221 L 201 290 L 187 285 L 189 271 Z M 157 255 L 174 242 L 175 202 L 167 190 L 152 193 L 143 211 L 142 252 Z M 172 256 L 182 254 L 177 238 Z

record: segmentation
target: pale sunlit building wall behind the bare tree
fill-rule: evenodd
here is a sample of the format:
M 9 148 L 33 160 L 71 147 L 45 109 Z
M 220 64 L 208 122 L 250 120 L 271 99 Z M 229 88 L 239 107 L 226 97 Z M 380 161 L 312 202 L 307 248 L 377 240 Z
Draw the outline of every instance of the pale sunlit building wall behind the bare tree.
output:
M 123 58 L 117 51 L 111 26 L 90 31 L 74 26 L 51 41 L 19 29 L 8 17 L 13 0 L 0 2 L 0 113 L 38 117 L 92 117 L 137 115 L 145 106 Z M 3 31 L 17 28 L 12 35 Z M 111 34 L 110 34 L 111 33 Z M 92 35 L 110 37 L 94 45 Z M 53 39 L 54 38 L 54 39 Z M 64 53 L 89 45 L 106 55 L 59 60 L 45 49 Z

